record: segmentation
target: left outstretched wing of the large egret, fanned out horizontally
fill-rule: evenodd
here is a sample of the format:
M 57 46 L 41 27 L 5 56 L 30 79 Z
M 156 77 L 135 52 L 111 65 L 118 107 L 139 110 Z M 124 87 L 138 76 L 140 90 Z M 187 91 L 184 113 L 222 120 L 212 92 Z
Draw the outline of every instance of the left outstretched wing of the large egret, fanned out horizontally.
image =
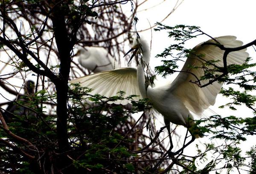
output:
M 138 82 L 137 68 L 125 67 L 115 70 L 103 71 L 89 76 L 71 80 L 69 83 L 80 83 L 81 87 L 93 89 L 90 93 L 104 95 L 106 97 L 118 96 L 119 91 L 124 91 L 124 98 L 129 95 L 140 95 L 134 97 L 135 101 L 142 99 Z M 114 101 L 115 104 L 128 104 L 129 100 Z

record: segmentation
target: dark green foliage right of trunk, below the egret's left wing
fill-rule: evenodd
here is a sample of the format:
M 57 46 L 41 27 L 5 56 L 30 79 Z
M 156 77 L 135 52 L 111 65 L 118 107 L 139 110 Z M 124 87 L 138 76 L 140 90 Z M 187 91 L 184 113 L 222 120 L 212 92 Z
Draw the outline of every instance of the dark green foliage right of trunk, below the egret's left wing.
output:
M 145 110 L 148 101 L 132 101 L 134 95 L 123 98 L 122 91 L 118 96 L 110 98 L 99 94 L 89 95 L 90 89 L 74 85 L 75 88 L 70 91 L 72 104 L 69 107 L 70 121 L 74 124 L 69 129 L 73 132 L 74 141 L 70 143 L 76 149 L 84 149 L 83 154 L 76 158 L 78 160 L 73 161 L 74 166 L 79 170 L 90 169 L 90 173 L 105 173 L 108 170 L 117 173 L 134 171 L 134 166 L 125 160 L 134 156 L 129 152 L 128 146 L 134 140 L 123 137 L 115 130 L 127 121 L 130 113 Z M 110 101 L 124 99 L 132 101 L 132 110 L 126 110 L 122 105 L 108 104 Z M 93 107 L 87 108 L 84 104 L 86 100 L 93 101 Z

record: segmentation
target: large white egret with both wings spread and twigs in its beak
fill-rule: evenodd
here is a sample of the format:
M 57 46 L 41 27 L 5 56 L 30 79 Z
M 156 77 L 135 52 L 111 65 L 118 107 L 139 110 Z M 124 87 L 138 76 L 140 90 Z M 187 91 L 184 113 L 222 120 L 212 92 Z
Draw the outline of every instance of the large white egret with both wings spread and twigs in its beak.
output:
M 218 83 L 217 81 L 202 88 L 199 87 L 198 84 L 192 83 L 198 81 L 201 76 L 204 76 L 204 70 L 200 67 L 205 66 L 205 62 L 214 60 L 217 61 L 214 62 L 215 66 L 223 67 L 224 51 L 216 45 L 205 44 L 217 43 L 215 40 L 226 48 L 239 47 L 243 44 L 243 42 L 236 40 L 235 36 L 221 36 L 197 45 L 192 49 L 182 70 L 171 84 L 168 83 L 151 87 L 148 83 L 145 83 L 147 80 L 145 79 L 145 75 L 150 59 L 150 49 L 147 42 L 143 39 L 135 39 L 129 51 L 135 50 L 131 59 L 135 54 L 142 53 L 142 56 L 137 57 L 137 68 L 125 67 L 104 71 L 74 79 L 70 81 L 70 83 L 79 82 L 82 87 L 93 89 L 93 94 L 99 93 L 107 97 L 116 95 L 119 91 L 125 91 L 124 97 L 140 95 L 140 97 L 135 98 L 135 100 L 148 98 L 154 109 L 163 115 L 164 122 L 169 132 L 171 150 L 173 144 L 170 135 L 170 122 L 183 125 L 189 129 L 193 124 L 191 112 L 196 115 L 201 115 L 210 105 L 215 104 L 215 98 L 221 90 L 223 83 Z M 227 65 L 242 64 L 247 59 L 247 56 L 248 53 L 246 49 L 230 52 L 227 56 Z M 207 82 L 207 80 L 201 80 L 201 85 L 207 84 Z M 116 101 L 115 103 L 127 104 L 128 102 L 129 101 Z M 192 140 L 189 141 L 189 143 L 191 143 L 195 140 L 196 133 L 191 129 L 189 129 L 189 132 L 192 135 Z M 189 143 L 183 146 L 183 148 Z

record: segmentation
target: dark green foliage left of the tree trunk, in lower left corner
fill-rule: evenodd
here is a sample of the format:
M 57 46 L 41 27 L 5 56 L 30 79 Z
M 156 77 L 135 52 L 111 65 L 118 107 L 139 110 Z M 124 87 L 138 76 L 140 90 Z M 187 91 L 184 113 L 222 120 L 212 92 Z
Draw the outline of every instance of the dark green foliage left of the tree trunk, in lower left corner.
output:
M 54 96 L 51 96 L 54 98 Z M 12 121 L 8 123 L 9 129 L 17 136 L 28 139 L 37 146 L 38 149 L 46 148 L 46 151 L 53 152 L 56 150 L 56 117 L 55 115 L 44 115 L 44 108 L 39 107 L 42 101 L 47 101 L 49 95 L 45 90 L 38 91 L 33 96 L 21 96 L 17 102 L 14 102 L 15 112 L 12 113 Z M 33 147 L 18 141 L 12 136 L 7 136 L 4 129 L 0 129 L 0 138 L 5 138 L 14 146 L 17 146 L 21 151 L 34 154 Z M 46 146 L 45 146 L 46 145 Z M 35 173 L 35 164 L 33 161 L 29 162 L 24 155 L 18 155 L 11 148 L 4 148 L 3 144 L 0 149 L 5 152 L 1 154 L 0 168 L 11 168 L 14 173 Z M 32 150 L 32 151 L 31 151 Z M 37 152 L 41 153 L 41 152 Z M 42 155 L 42 154 L 41 154 Z M 12 160 L 12 165 L 9 161 Z

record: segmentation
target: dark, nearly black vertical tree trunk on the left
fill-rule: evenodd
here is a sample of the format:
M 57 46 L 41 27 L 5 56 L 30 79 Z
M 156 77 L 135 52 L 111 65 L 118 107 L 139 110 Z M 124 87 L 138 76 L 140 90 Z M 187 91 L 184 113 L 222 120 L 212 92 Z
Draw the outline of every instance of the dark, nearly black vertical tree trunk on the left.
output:
M 67 138 L 67 83 L 71 63 L 70 51 L 73 46 L 70 44 L 66 29 L 65 13 L 60 8 L 55 9 L 56 11 L 54 11 L 52 16 L 52 25 L 60 58 L 59 80 L 55 83 L 57 93 L 57 136 L 58 149 L 64 152 L 69 149 Z

